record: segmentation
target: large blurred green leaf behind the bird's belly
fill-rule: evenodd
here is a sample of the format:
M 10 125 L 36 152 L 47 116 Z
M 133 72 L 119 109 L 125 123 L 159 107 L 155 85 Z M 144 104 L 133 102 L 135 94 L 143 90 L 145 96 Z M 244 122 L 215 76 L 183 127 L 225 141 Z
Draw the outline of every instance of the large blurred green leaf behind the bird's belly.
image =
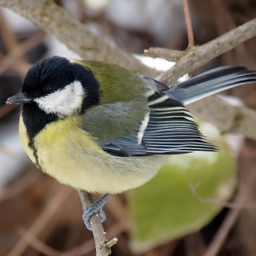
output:
M 236 159 L 214 126 L 203 123 L 201 128 L 219 145 L 219 152 L 170 155 L 150 182 L 128 193 L 133 251 L 147 251 L 205 226 L 220 207 L 198 197 L 226 201 L 232 195 Z M 197 196 L 190 187 L 196 184 Z

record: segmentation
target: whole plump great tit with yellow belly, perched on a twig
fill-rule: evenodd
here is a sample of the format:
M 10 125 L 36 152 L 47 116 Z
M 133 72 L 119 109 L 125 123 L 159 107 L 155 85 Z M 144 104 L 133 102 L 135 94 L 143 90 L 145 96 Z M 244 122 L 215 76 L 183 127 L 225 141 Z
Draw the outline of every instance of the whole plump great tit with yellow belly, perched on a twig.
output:
M 167 155 L 216 151 L 185 105 L 256 81 L 242 67 L 211 69 L 169 88 L 117 65 L 52 57 L 27 71 L 19 133 L 27 155 L 60 183 L 107 193 L 86 209 L 101 210 L 107 197 L 149 181 Z

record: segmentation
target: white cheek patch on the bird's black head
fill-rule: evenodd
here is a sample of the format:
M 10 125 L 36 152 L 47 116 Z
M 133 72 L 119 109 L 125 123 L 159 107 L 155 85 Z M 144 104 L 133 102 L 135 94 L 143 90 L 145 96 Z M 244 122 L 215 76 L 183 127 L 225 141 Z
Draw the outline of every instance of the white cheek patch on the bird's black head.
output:
M 63 117 L 80 110 L 84 94 L 80 81 L 76 80 L 63 89 L 34 99 L 34 101 L 44 112 L 56 113 L 59 117 Z

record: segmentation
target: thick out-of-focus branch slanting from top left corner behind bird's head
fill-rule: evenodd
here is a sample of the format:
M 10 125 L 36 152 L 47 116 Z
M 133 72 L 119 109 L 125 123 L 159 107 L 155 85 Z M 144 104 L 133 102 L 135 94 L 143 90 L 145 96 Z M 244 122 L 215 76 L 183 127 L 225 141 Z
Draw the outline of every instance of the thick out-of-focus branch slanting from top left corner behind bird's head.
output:
M 155 77 L 155 69 L 144 66 L 130 54 L 93 34 L 52 0 L 0 0 L 0 5 L 26 16 L 49 35 L 57 37 L 82 59 L 109 61 L 133 72 Z

